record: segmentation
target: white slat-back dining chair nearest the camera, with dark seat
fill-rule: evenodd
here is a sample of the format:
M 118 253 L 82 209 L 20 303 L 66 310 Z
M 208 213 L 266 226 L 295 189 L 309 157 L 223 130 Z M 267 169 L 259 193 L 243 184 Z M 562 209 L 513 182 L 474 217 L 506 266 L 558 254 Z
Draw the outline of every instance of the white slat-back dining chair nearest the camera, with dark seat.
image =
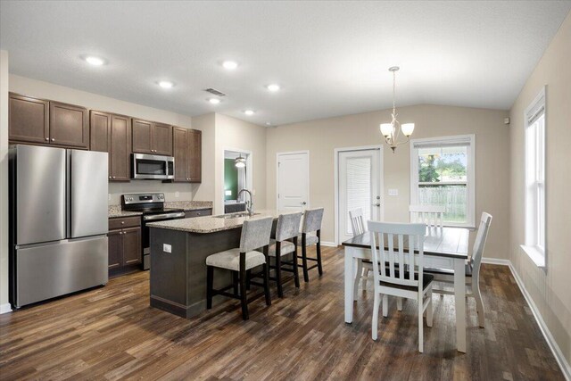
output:
M 423 271 L 425 224 L 403 224 L 368 221 L 371 235 L 373 277 L 375 278 L 375 302 L 371 319 L 372 337 L 377 340 L 378 310 L 383 297 L 383 316 L 388 316 L 388 295 L 414 299 L 418 302 L 418 352 L 424 351 L 423 315 L 426 325 L 432 327 L 432 283 L 434 276 Z M 407 252 L 404 249 L 407 238 Z M 394 250 L 394 239 L 398 245 Z M 385 244 L 386 243 L 386 244 Z M 377 249 L 377 246 L 379 249 Z M 383 250 L 388 248 L 388 250 Z M 415 251 L 418 251 L 415 254 Z M 379 266 L 387 263 L 387 266 Z M 398 264 L 398 268 L 397 268 Z M 409 271 L 404 271 L 408 264 Z

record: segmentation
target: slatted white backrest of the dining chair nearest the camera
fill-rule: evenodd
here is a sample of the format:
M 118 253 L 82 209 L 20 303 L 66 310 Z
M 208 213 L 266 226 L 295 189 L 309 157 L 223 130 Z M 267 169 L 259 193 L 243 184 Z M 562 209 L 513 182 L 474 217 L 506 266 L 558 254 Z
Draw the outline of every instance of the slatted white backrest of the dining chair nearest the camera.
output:
M 400 286 L 415 286 L 419 292 L 422 291 L 426 225 L 377 221 L 368 221 L 367 225 L 371 235 L 373 277 L 376 284 L 387 282 Z M 388 269 L 385 265 L 379 266 L 379 262 L 388 263 Z M 398 270 L 395 266 L 397 263 Z M 408 274 L 403 271 L 405 264 L 410 265 Z M 418 273 L 416 278 L 415 273 Z

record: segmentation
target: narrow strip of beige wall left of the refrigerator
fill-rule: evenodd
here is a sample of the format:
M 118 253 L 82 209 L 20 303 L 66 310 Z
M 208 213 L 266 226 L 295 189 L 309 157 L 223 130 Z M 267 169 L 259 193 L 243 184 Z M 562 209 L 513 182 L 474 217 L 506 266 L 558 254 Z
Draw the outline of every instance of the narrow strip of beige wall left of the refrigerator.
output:
M 8 52 L 0 50 L 0 313 L 8 311 Z

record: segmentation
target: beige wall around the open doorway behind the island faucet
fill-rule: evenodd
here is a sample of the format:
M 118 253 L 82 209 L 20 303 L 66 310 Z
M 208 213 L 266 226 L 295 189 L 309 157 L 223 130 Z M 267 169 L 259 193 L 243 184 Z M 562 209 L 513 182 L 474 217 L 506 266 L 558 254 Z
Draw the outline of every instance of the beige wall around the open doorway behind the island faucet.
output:
M 228 149 L 252 152 L 254 209 L 266 208 L 266 131 L 265 127 L 216 114 L 215 213 L 224 212 L 224 151 Z

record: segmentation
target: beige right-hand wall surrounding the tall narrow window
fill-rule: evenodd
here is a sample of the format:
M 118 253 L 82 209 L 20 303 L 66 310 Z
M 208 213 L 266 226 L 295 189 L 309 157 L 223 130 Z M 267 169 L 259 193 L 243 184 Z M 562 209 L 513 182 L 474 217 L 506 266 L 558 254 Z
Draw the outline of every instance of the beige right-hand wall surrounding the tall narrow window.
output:
M 571 362 L 571 13 L 512 106 L 510 260 L 567 362 Z M 524 112 L 546 85 L 547 269 L 519 248 L 525 239 Z

